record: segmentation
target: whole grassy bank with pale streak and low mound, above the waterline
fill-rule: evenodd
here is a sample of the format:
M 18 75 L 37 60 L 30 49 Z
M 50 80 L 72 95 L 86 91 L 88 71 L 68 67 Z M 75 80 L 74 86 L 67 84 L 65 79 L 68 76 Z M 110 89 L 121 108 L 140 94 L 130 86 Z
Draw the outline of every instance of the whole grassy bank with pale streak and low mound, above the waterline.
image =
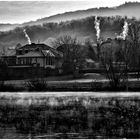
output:
M 47 78 L 9 80 L 0 84 L 0 91 L 140 91 L 138 78 L 129 78 L 129 82 L 111 87 L 109 80 L 97 73 L 86 73 L 77 78 L 72 75 Z

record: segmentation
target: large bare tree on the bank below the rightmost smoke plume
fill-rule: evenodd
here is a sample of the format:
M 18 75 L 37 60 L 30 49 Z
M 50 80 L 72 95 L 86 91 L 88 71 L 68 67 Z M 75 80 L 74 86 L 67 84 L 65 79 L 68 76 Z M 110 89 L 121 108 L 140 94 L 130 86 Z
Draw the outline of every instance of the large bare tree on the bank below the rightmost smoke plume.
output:
M 114 52 L 113 44 L 102 48 L 101 62 L 105 70 L 105 76 L 109 80 L 110 87 L 118 90 L 122 86 L 128 90 L 128 64 L 130 61 L 130 48 L 125 40 L 117 40 L 120 48 Z M 116 54 L 117 57 L 114 57 Z M 119 55 L 117 55 L 119 54 Z

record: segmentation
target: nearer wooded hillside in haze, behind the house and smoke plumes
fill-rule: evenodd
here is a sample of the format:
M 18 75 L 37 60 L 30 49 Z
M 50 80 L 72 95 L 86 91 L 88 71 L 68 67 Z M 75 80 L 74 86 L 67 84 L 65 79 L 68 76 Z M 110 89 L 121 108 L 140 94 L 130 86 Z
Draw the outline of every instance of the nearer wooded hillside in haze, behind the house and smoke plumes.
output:
M 94 28 L 95 17 L 87 17 L 79 20 L 66 21 L 61 23 L 46 23 L 43 25 L 26 26 L 27 34 L 31 42 L 45 43 L 51 45 L 55 38 L 63 35 L 77 37 L 81 43 L 87 39 L 96 41 L 96 31 Z M 131 19 L 128 19 L 131 20 Z M 115 33 L 120 33 L 124 24 L 124 18 L 100 17 L 101 38 L 115 37 Z M 28 43 L 22 27 L 7 32 L 0 32 L 0 49 L 15 47 L 18 43 L 25 45 Z

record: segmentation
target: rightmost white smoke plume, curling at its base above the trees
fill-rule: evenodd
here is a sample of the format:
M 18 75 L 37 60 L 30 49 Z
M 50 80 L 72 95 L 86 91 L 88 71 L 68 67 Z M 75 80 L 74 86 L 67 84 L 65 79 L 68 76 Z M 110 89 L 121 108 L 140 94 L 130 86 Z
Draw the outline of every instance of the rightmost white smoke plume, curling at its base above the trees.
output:
M 127 21 L 125 21 L 123 26 L 123 31 L 119 36 L 117 36 L 117 38 L 125 40 L 127 35 L 128 35 L 128 23 Z

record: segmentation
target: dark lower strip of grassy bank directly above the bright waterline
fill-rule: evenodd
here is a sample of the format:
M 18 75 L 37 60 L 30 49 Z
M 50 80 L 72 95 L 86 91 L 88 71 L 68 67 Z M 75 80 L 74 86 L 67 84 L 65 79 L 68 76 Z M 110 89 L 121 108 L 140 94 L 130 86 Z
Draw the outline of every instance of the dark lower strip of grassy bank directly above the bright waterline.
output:
M 72 81 L 46 81 L 43 79 L 32 79 L 22 81 L 22 83 L 12 83 L 0 85 L 0 91 L 25 92 L 25 91 L 140 91 L 140 81 L 129 81 L 126 85 L 122 84 L 117 88 L 109 85 L 108 81 L 96 80 L 72 80 Z

